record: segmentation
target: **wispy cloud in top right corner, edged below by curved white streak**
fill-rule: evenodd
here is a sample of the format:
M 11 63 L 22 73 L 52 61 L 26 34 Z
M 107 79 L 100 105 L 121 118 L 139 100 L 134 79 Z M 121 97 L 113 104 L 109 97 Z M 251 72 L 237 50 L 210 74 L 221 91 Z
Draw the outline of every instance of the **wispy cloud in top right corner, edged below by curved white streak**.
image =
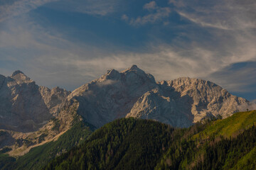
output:
M 256 2 L 247 1 L 189 1 L 170 0 L 184 18 L 204 27 L 223 30 L 256 28 Z

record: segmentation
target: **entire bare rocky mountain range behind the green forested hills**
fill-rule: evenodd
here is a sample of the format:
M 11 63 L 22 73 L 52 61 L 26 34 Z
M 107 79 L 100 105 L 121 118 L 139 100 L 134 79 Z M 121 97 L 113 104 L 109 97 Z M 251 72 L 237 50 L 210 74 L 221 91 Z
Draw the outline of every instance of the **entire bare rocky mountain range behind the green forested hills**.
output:
M 0 75 L 0 147 L 12 156 L 57 140 L 83 120 L 100 128 L 117 118 L 157 120 L 188 128 L 206 118 L 227 118 L 250 107 L 245 98 L 188 77 L 156 82 L 136 65 L 110 69 L 74 91 L 38 86 L 23 72 Z

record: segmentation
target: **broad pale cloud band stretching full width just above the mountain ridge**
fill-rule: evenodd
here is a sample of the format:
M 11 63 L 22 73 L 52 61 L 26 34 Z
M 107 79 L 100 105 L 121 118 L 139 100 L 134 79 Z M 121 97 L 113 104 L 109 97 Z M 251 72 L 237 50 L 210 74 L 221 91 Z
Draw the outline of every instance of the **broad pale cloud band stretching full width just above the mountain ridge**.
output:
M 241 47 L 232 46 L 229 49 L 233 50 L 233 53 L 206 49 L 201 44 L 189 42 L 183 42 L 183 46 L 179 47 L 164 43 L 148 44 L 145 47 L 148 49 L 147 52 L 115 50 L 113 53 L 112 50 L 72 42 L 64 35 L 50 33 L 32 21 L 18 23 L 14 20 L 9 23 L 6 30 L 0 32 L 0 51 L 11 49 L 9 55 L 1 55 L 0 60 L 12 60 L 14 67 L 17 67 L 15 63 L 19 63 L 22 67 L 18 69 L 26 72 L 38 84 L 50 87 L 63 86 L 68 89 L 74 89 L 99 78 L 107 69 L 122 71 L 132 64 L 137 64 L 145 72 L 153 74 L 159 81 L 178 77 L 216 80 L 211 75 L 214 72 L 235 62 L 256 60 L 253 48 L 255 43 L 252 43 L 253 40 L 248 42 L 245 35 L 240 36 L 241 38 L 237 37 L 237 41 Z M 10 70 L 9 74 L 14 69 Z M 245 74 L 238 76 L 245 77 Z M 230 79 L 215 82 L 225 85 L 228 90 L 237 90 L 240 86 L 245 86 L 238 81 L 232 81 L 232 85 Z M 230 86 L 226 86 L 228 83 Z

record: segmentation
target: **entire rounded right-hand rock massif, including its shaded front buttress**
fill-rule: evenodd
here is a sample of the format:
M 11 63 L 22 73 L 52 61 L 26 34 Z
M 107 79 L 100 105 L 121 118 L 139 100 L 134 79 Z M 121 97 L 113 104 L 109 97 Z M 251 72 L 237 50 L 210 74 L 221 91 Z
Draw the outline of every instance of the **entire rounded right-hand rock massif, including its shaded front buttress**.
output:
M 233 96 L 210 81 L 188 77 L 161 81 L 157 89 L 144 94 L 127 117 L 159 120 L 176 127 L 188 127 L 203 118 L 227 118 L 249 106 L 245 98 Z

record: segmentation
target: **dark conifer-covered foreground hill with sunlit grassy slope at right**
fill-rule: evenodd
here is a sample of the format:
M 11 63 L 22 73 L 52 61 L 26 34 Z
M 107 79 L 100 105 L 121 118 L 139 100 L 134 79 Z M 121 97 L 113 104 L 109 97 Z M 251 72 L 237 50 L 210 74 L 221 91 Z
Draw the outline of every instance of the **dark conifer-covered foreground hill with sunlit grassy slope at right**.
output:
M 119 119 L 44 169 L 252 169 L 255 118 L 256 111 L 235 113 L 183 129 Z

